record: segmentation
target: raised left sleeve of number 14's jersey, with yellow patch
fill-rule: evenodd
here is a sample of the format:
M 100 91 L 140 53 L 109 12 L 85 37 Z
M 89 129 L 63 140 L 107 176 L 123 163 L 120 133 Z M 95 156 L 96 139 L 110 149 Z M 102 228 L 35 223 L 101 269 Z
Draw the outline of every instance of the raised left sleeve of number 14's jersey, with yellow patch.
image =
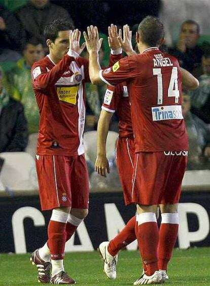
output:
M 116 85 L 123 81 L 128 82 L 139 74 L 141 74 L 141 69 L 138 67 L 136 55 L 124 57 L 112 67 L 99 72 L 101 80 L 108 85 Z

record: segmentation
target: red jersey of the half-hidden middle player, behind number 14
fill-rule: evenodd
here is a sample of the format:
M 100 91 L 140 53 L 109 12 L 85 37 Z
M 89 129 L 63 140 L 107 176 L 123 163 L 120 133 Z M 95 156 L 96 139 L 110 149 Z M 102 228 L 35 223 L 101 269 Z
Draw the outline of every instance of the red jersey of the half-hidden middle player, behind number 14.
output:
M 130 102 L 126 83 L 108 85 L 101 107 L 108 112 L 117 112 L 119 119 L 119 137 L 133 137 Z

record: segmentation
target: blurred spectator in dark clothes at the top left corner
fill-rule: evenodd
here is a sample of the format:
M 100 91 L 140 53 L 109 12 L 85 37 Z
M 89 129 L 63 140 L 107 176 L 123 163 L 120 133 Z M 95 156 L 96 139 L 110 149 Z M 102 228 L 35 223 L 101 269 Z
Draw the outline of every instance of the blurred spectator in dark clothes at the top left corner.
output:
M 21 24 L 16 17 L 0 6 L 0 61 L 16 61 L 23 40 Z

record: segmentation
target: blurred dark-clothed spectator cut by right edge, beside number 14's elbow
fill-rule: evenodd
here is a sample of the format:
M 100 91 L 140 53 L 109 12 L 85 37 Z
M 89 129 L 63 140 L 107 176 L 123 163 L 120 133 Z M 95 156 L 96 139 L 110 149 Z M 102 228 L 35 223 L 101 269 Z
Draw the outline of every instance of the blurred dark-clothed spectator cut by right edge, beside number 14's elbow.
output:
M 210 48 L 202 56 L 203 74 L 199 77 L 199 88 L 190 92 L 192 113 L 210 123 Z

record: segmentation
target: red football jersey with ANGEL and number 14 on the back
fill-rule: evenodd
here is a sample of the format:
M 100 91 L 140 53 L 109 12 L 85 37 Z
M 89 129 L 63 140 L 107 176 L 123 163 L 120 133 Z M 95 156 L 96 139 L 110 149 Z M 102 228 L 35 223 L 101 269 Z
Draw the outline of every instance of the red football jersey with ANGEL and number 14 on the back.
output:
M 148 48 L 101 70 L 100 77 L 111 85 L 127 83 L 135 152 L 188 150 L 182 78 L 175 57 Z

